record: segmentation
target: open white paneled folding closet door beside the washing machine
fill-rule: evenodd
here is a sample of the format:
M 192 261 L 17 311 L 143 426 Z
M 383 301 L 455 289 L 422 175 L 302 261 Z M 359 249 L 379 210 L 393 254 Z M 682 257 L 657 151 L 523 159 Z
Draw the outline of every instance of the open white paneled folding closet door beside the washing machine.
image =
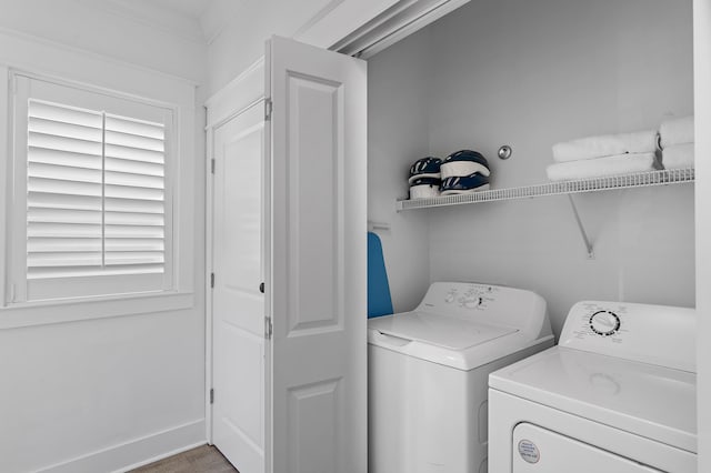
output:
M 365 63 L 281 38 L 269 42 L 267 63 L 268 471 L 364 473 Z

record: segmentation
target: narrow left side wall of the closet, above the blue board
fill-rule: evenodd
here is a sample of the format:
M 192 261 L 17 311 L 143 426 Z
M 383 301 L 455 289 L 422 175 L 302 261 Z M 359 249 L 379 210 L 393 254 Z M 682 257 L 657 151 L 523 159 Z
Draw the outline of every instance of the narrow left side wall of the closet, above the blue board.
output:
M 368 220 L 390 224 L 375 233 L 395 312 L 414 309 L 430 282 L 427 215 L 395 212 L 410 165 L 429 153 L 429 48 L 424 30 L 368 63 Z

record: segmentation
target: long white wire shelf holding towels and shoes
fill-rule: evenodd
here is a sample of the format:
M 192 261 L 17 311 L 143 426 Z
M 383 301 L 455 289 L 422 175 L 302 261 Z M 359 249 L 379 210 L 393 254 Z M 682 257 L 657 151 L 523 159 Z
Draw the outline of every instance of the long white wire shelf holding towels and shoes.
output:
M 649 185 L 681 184 L 694 181 L 694 169 L 664 169 L 661 171 L 635 172 L 605 178 L 579 179 L 575 181 L 549 182 L 522 188 L 491 189 L 471 194 L 444 195 L 427 199 L 404 199 L 397 203 L 398 212 L 431 207 L 448 207 L 465 203 L 493 202 L 545 195 L 598 192 L 612 189 L 643 188 Z

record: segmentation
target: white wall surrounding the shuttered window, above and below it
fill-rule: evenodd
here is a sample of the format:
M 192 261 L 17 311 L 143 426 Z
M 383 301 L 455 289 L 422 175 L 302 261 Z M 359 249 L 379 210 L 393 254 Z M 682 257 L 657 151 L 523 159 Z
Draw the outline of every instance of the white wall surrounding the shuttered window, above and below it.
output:
M 173 302 L 0 310 L 0 326 L 16 325 L 0 329 L 3 472 L 114 471 L 206 439 L 204 123 L 202 93 L 196 95 L 206 47 L 87 3 L 2 1 L 0 64 L 158 100 L 182 98 L 184 294 Z M 4 163 L 7 142 L 0 149 Z M 23 318 L 72 314 L 114 316 L 20 326 Z

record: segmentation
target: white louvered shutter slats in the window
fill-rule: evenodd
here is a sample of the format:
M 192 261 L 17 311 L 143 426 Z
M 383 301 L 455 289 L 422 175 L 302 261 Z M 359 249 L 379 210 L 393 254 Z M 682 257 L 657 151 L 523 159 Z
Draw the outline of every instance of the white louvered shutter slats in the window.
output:
M 30 99 L 27 278 L 166 271 L 166 130 Z

